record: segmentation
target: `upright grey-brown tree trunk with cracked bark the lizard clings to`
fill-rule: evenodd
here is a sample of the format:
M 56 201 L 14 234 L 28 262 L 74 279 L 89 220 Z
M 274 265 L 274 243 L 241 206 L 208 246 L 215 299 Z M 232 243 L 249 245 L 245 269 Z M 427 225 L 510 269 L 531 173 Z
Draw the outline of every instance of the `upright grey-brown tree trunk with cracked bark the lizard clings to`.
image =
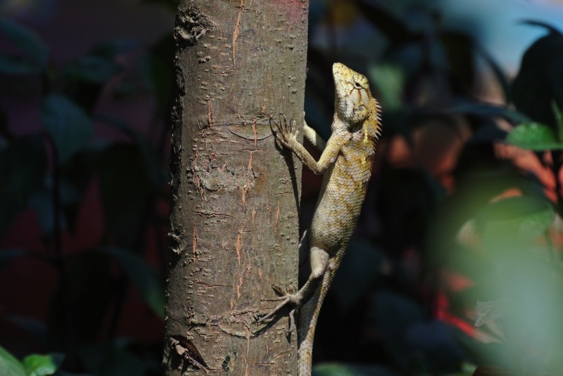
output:
M 297 290 L 301 164 L 269 117 L 303 119 L 308 0 L 181 0 L 172 110 L 167 375 L 295 374 L 271 285 Z M 199 371 L 198 371 L 199 370 Z

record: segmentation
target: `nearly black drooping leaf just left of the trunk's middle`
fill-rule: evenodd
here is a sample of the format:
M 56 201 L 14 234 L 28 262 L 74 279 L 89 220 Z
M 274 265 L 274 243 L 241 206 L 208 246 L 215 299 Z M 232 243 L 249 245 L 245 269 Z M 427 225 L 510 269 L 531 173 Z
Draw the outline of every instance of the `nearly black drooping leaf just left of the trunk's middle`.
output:
M 135 144 L 115 144 L 98 160 L 106 231 L 118 246 L 133 248 L 146 213 L 151 182 Z

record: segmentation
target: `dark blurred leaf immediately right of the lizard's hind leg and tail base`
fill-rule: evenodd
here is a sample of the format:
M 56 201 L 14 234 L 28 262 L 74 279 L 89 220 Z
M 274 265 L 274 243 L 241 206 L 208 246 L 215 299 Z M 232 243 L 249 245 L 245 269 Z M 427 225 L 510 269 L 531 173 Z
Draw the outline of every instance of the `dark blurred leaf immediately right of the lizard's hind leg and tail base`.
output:
M 369 242 L 352 237 L 346 257 L 334 277 L 331 291 L 346 311 L 363 296 L 378 277 L 384 254 Z

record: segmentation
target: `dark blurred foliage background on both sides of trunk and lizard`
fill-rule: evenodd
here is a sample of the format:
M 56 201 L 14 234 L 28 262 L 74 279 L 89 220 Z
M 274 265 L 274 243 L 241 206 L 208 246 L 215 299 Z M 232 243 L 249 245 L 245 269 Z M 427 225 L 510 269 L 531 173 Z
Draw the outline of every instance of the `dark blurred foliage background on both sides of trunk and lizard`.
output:
M 0 3 L 0 373 L 160 373 L 175 10 Z M 383 108 L 314 373 L 563 375 L 563 3 L 310 0 L 309 25 L 308 124 L 336 61 Z

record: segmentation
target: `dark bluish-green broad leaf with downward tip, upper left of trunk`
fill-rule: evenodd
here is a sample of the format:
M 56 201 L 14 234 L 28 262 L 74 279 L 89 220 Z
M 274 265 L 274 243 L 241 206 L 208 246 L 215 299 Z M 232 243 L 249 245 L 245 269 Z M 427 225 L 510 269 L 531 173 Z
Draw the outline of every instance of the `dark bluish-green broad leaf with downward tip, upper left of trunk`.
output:
M 41 119 L 53 139 L 59 163 L 84 148 L 94 132 L 91 118 L 63 95 L 51 94 L 45 99 Z

